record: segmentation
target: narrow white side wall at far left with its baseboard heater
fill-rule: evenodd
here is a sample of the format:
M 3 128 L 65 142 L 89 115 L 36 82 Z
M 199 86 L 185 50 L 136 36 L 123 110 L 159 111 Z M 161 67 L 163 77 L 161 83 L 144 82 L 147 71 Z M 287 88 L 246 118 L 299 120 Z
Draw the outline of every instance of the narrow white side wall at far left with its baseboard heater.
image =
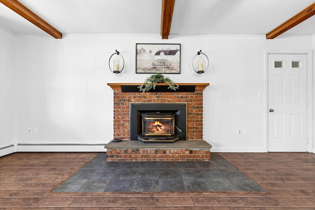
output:
M 0 156 L 14 152 L 14 35 L 0 28 Z

